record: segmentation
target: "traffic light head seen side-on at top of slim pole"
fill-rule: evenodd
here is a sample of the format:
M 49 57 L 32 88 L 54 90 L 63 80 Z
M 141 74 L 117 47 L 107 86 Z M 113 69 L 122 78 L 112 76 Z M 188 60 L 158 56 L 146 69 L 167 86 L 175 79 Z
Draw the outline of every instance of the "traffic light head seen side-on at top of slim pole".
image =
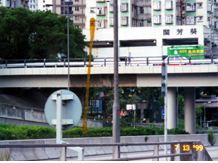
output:
M 161 70 L 161 94 L 166 96 L 167 92 L 167 64 L 163 61 Z

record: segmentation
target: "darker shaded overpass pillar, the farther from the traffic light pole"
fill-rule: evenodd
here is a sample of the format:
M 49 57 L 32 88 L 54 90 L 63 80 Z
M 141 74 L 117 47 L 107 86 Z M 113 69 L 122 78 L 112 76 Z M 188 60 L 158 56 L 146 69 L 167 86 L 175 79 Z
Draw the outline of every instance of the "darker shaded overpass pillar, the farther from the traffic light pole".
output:
M 185 90 L 185 131 L 190 134 L 196 132 L 196 115 L 195 115 L 195 88 L 187 87 Z

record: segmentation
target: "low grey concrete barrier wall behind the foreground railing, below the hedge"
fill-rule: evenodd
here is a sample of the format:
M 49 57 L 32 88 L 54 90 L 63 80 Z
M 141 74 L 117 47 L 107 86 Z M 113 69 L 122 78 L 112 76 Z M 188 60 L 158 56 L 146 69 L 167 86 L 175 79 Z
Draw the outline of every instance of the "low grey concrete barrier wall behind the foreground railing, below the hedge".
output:
M 148 136 L 147 142 L 163 142 L 163 135 Z M 121 143 L 140 143 L 144 141 L 145 136 L 121 136 Z M 191 134 L 191 135 L 169 135 L 168 141 L 190 141 L 200 140 L 204 146 L 210 146 L 207 140 L 207 134 Z M 90 138 L 68 138 L 64 141 L 70 144 L 95 144 L 95 143 L 112 143 L 112 137 L 90 137 Z M 35 140 L 11 140 L 0 141 L 0 144 L 55 144 L 55 139 L 35 139 Z M 218 145 L 218 142 L 217 144 Z M 164 149 L 164 145 L 160 146 L 160 149 Z M 9 150 L 9 149 L 8 149 Z M 14 161 L 30 161 L 30 160 L 45 160 L 45 159 L 58 159 L 60 157 L 60 148 L 12 148 L 12 160 Z M 121 147 L 121 153 L 127 152 L 140 152 L 154 150 L 154 146 L 123 146 Z M 1 152 L 1 151 L 0 151 Z M 85 147 L 85 156 L 104 155 L 111 154 L 112 147 Z M 67 150 L 67 157 L 76 157 L 77 153 L 71 150 Z

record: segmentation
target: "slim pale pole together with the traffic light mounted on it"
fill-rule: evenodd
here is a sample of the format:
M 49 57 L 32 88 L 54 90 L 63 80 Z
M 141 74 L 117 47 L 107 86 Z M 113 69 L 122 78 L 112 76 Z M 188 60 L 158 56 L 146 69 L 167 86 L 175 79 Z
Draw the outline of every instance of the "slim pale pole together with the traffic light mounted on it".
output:
M 161 93 L 164 95 L 164 141 L 167 142 L 167 63 L 164 60 L 161 72 Z M 167 145 L 165 145 L 165 155 L 167 155 Z

